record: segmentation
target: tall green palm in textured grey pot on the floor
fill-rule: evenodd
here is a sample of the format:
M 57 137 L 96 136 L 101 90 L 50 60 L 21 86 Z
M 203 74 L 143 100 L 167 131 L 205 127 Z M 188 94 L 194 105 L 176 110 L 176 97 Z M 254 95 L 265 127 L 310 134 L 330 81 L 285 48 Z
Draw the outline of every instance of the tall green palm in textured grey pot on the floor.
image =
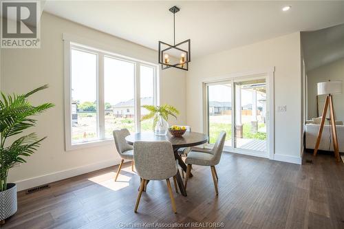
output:
M 33 106 L 28 97 L 46 89 L 47 85 L 27 94 L 5 95 L 0 98 L 0 223 L 17 212 L 17 186 L 7 182 L 8 171 L 16 163 L 25 163 L 24 157 L 34 153 L 46 138 L 38 138 L 36 133 L 23 135 L 23 131 L 34 127 L 32 116 L 54 107 L 52 103 Z M 20 136 L 19 136 L 20 135 Z M 15 136 L 18 136 L 17 138 Z

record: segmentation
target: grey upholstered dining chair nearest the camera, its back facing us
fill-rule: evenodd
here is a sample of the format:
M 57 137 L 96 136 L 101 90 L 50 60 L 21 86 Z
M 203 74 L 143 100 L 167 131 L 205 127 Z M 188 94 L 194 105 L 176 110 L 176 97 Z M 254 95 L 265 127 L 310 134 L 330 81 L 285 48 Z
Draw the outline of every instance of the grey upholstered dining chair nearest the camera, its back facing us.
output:
M 173 212 L 177 212 L 175 201 L 172 194 L 171 183 L 169 178 L 177 175 L 178 161 L 175 160 L 171 142 L 144 142 L 138 141 L 133 144 L 133 159 L 135 161 L 136 173 L 141 177 L 140 191 L 134 212 L 138 210 L 138 204 L 144 184 L 147 180 L 166 180 L 167 189 L 171 199 Z M 176 184 L 175 184 L 176 185 Z M 175 188 L 177 188 L 175 186 Z

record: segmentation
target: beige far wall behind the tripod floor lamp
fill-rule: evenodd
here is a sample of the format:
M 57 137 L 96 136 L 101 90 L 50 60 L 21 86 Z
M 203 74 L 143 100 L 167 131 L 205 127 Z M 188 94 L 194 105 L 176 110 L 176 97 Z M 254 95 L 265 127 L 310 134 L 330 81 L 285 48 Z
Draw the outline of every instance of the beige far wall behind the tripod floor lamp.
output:
M 308 118 L 316 117 L 316 83 L 327 80 L 342 80 L 344 85 L 344 58 L 323 65 L 307 72 L 308 76 Z M 333 95 L 336 120 L 344 121 L 344 88 L 343 94 Z M 319 116 L 323 112 L 325 95 L 319 96 Z

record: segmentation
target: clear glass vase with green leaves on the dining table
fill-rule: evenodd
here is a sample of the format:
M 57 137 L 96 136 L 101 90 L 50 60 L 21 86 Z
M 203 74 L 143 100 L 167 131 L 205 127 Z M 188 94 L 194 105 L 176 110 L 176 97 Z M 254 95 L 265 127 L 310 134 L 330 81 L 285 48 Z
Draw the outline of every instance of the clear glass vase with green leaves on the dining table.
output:
M 142 117 L 143 120 L 153 119 L 153 131 L 155 135 L 166 135 L 169 130 L 169 116 L 173 116 L 177 119 L 179 115 L 178 109 L 171 105 L 153 106 L 143 105 L 143 108 L 147 109 L 149 113 Z

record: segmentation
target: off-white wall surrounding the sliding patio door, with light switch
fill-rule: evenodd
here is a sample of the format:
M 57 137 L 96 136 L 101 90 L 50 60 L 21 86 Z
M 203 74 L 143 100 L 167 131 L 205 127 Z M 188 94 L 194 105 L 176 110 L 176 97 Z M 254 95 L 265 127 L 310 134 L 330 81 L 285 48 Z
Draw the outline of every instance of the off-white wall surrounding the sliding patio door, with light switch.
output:
M 301 46 L 299 32 L 275 39 L 193 58 L 186 74 L 187 122 L 194 131 L 205 131 L 202 117 L 202 82 L 224 79 L 226 74 L 275 66 L 275 154 L 301 162 Z M 275 109 L 276 110 L 276 109 Z

